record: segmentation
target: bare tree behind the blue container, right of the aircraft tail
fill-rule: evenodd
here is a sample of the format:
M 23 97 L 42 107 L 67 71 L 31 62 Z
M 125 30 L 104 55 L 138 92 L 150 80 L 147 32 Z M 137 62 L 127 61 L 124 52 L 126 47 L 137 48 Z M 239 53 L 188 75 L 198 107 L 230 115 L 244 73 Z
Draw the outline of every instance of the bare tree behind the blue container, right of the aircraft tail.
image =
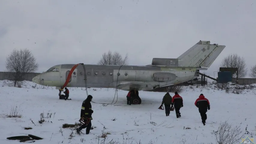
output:
M 230 54 L 225 57 L 222 60 L 220 67 L 237 67 L 238 70 L 232 75 L 232 78 L 236 77 L 236 80 L 247 75 L 245 60 L 237 54 Z

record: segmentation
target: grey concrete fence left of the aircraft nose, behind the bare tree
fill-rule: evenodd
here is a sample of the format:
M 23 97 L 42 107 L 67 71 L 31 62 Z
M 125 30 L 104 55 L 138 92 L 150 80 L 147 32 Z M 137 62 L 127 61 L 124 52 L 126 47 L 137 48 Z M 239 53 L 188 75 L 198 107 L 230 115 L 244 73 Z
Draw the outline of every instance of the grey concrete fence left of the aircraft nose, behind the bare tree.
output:
M 0 72 L 0 80 L 9 80 L 14 73 L 11 72 Z M 32 81 L 32 79 L 40 73 L 25 73 L 23 76 L 24 80 Z

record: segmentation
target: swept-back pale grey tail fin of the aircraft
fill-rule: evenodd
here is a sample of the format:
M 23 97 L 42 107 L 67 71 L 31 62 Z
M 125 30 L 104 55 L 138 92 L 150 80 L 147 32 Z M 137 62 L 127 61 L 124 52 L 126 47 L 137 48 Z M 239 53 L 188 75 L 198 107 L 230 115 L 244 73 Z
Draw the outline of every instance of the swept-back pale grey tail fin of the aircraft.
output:
M 226 46 L 199 41 L 177 59 L 179 67 L 210 67 Z

